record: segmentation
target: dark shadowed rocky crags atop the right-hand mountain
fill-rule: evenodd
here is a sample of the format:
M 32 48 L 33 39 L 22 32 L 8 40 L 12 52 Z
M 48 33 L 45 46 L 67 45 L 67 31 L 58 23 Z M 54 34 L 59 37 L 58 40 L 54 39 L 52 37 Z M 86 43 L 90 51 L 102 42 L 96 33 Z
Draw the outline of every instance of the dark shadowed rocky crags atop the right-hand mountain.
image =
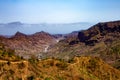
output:
M 79 32 L 78 38 L 86 45 L 106 41 L 109 38 L 111 40 L 120 38 L 120 21 L 98 23 L 88 30 Z

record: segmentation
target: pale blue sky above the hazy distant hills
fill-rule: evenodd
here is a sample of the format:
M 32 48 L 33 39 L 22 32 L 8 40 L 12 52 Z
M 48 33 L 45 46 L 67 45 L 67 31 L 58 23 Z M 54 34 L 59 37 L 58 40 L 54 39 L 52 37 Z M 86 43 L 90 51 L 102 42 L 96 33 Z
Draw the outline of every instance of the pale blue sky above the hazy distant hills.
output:
M 0 23 L 120 20 L 120 0 L 0 0 Z

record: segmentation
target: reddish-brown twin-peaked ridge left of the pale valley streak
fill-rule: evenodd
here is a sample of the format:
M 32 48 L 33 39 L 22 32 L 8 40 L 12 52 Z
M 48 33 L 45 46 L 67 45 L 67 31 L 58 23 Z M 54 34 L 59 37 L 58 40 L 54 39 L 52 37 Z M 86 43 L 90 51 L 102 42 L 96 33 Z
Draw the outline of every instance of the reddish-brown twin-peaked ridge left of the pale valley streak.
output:
M 26 35 L 17 32 L 11 38 L 0 38 L 1 43 L 6 47 L 15 50 L 15 53 L 24 58 L 29 58 L 31 55 L 38 55 L 44 52 L 49 45 L 55 44 L 56 40 L 53 36 L 46 32 L 38 32 L 32 35 Z

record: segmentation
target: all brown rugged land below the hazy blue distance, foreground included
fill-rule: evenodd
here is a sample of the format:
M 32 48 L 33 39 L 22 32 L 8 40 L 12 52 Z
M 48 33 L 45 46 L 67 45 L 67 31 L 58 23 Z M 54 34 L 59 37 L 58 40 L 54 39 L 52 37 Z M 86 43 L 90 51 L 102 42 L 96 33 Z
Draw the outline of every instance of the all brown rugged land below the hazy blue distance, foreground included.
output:
M 1 36 L 0 79 L 120 80 L 120 21 L 64 36 Z

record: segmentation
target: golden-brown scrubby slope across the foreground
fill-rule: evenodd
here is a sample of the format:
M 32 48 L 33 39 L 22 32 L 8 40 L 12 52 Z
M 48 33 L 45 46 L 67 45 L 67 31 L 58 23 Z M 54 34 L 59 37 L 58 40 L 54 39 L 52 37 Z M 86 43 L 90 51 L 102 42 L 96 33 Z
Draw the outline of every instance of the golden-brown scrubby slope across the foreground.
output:
M 97 57 L 75 57 L 68 62 L 0 60 L 0 80 L 120 80 L 120 71 Z

